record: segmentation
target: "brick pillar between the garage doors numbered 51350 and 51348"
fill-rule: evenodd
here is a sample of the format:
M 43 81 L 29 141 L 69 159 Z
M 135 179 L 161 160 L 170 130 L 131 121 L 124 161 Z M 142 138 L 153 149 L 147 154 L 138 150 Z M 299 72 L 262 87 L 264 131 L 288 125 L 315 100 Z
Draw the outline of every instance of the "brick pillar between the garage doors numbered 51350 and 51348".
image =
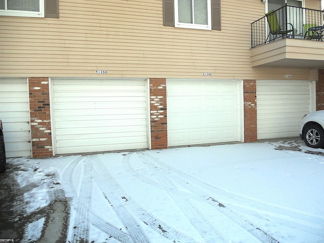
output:
M 167 80 L 150 78 L 151 148 L 168 148 Z

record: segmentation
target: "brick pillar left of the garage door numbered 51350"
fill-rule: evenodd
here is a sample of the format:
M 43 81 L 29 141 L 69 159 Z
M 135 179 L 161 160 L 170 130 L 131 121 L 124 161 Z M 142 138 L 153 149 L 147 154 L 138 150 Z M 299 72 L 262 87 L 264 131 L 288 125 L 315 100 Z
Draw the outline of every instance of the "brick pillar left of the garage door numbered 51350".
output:
M 29 77 L 28 86 L 32 156 L 53 156 L 49 78 Z

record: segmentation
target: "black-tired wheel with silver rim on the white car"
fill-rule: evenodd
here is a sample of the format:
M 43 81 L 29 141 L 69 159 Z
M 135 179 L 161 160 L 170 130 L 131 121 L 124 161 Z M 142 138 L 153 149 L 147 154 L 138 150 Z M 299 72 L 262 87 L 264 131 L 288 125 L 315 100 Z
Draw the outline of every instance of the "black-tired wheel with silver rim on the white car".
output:
M 324 131 L 318 124 L 307 125 L 303 138 L 308 147 L 322 148 L 324 146 Z

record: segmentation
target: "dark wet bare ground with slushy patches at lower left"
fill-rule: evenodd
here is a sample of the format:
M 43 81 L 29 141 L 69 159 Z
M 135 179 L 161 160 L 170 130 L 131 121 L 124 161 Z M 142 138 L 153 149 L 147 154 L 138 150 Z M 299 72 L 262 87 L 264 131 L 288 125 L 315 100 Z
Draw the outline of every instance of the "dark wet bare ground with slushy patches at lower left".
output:
M 69 200 L 64 197 L 64 192 L 59 188 L 55 174 L 47 174 L 51 179 L 45 183 L 48 190 L 47 196 L 41 199 L 46 203 L 44 207 L 27 210 L 29 202 L 25 193 L 32 193 L 39 184 L 26 182 L 21 186 L 15 179 L 17 173 L 30 173 L 36 176 L 38 168 L 26 170 L 22 165 L 7 165 L 7 171 L 0 174 L 0 238 L 14 239 L 15 242 L 34 242 L 28 239 L 33 231 L 28 226 L 41 220 L 43 226 L 39 229 L 37 242 L 65 242 L 70 206 Z M 42 184 L 41 184 L 42 185 Z M 37 195 L 35 196 L 37 198 Z

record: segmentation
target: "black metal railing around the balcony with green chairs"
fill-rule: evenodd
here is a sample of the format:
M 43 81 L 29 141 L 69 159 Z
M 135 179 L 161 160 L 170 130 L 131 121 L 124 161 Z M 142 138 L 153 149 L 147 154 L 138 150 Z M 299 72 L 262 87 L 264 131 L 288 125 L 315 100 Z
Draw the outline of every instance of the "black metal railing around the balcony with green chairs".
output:
M 278 38 L 324 41 L 323 24 L 322 11 L 286 5 L 251 24 L 252 48 Z

